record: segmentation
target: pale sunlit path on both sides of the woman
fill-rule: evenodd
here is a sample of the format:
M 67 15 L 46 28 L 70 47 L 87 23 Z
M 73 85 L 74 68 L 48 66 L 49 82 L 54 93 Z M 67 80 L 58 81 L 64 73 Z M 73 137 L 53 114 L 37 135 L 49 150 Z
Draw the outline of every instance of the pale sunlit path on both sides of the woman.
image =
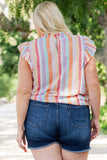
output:
M 33 160 L 30 150 L 24 152 L 16 142 L 16 105 L 0 105 L 0 160 Z M 107 135 L 91 142 L 88 160 L 107 160 Z

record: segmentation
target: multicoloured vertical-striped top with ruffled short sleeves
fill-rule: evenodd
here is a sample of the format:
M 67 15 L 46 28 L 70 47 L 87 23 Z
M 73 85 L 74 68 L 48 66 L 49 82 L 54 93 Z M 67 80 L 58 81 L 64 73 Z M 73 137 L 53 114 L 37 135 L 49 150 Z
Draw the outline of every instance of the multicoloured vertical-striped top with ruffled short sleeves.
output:
M 32 72 L 30 99 L 90 105 L 84 67 L 95 54 L 93 40 L 70 32 L 49 33 L 18 49 Z

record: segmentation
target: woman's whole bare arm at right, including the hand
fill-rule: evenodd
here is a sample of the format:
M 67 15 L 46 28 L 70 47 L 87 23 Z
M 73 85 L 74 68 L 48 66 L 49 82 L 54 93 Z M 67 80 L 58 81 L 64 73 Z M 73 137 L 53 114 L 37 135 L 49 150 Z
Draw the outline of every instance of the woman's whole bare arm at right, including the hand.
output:
M 99 117 L 100 117 L 101 91 L 100 91 L 100 84 L 97 74 L 95 57 L 92 57 L 90 61 L 85 65 L 85 79 L 92 109 L 92 119 L 91 119 L 91 140 L 92 140 L 99 134 L 100 130 Z

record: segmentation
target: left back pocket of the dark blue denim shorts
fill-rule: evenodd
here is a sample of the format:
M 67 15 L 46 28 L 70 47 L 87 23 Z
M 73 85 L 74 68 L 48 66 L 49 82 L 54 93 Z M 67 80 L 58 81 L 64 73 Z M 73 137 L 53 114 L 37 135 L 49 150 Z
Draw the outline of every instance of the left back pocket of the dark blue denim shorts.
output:
M 29 103 L 28 112 L 26 116 L 26 123 L 37 127 L 46 123 L 49 110 L 49 104 Z

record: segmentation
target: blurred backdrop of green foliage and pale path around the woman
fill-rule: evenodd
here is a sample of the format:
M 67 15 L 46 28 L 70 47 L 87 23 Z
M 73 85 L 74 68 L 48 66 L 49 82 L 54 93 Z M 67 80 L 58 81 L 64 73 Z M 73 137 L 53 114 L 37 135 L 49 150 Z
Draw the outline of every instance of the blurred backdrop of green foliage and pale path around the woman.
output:
M 20 56 L 17 46 L 22 42 L 38 38 L 32 21 L 32 12 L 41 2 L 43 0 L 0 0 L 0 134 L 2 136 L 2 138 L 0 137 L 2 140 L 0 141 L 2 144 L 0 155 L 3 160 L 6 156 L 8 159 L 10 156 L 12 160 L 12 154 L 8 155 L 8 149 L 7 152 L 6 150 L 4 152 L 7 143 L 11 143 L 10 152 L 16 145 L 16 149 L 20 153 L 19 157 L 17 157 L 18 153 L 13 153 L 14 160 L 16 157 L 17 160 L 18 158 L 22 159 L 22 155 L 26 154 L 20 151 L 21 149 L 17 147 L 14 140 L 16 134 L 15 101 Z M 88 36 L 97 47 L 95 58 L 101 88 L 100 134 L 102 143 L 104 138 L 104 143 L 100 146 L 102 145 L 104 152 L 104 149 L 107 148 L 107 0 L 53 0 L 53 2 L 58 5 L 72 33 Z M 100 137 L 98 138 L 99 143 Z M 100 149 L 95 148 L 89 158 L 92 160 L 91 154 L 96 153 L 97 156 L 99 152 Z M 105 152 L 102 154 L 104 156 Z M 30 156 L 31 153 L 29 153 L 28 159 Z

